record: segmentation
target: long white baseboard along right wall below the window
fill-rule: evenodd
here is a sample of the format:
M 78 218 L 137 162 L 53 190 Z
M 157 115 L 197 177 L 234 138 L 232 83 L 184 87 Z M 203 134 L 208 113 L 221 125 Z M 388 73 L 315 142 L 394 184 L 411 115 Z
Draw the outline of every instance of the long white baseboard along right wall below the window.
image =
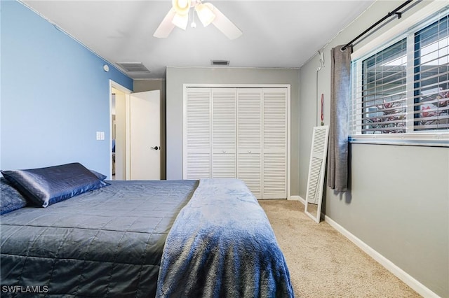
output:
M 393 262 L 388 260 L 386 257 L 381 255 L 380 253 L 377 253 L 376 250 L 368 246 L 365 242 L 358 239 L 356 236 L 351 234 L 347 229 L 344 229 L 341 225 L 337 224 L 334 220 L 329 218 L 327 215 L 325 215 L 324 220 L 328 222 L 328 224 L 336 229 L 340 234 L 345 236 L 347 239 L 349 239 L 352 243 L 354 243 L 358 248 L 361 248 L 365 253 L 367 253 L 370 257 L 373 257 L 374 260 L 376 260 L 379 264 L 381 264 L 385 269 L 390 271 L 394 276 L 399 278 L 401 281 L 406 283 L 410 288 L 415 290 L 418 294 L 420 294 L 422 297 L 425 298 L 438 298 L 439 296 L 436 295 L 434 292 L 429 290 L 426 286 L 424 286 L 422 283 L 417 281 L 415 278 L 410 276 L 410 274 L 407 274 L 406 271 L 403 271 L 401 268 L 397 267 Z

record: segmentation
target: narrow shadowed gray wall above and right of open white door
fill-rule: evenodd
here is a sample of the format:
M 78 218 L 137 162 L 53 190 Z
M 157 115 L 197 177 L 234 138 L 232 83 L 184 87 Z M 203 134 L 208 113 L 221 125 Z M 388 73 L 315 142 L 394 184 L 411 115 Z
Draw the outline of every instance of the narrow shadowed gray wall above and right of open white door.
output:
M 161 179 L 166 179 L 166 80 L 134 80 L 134 92 L 161 92 Z

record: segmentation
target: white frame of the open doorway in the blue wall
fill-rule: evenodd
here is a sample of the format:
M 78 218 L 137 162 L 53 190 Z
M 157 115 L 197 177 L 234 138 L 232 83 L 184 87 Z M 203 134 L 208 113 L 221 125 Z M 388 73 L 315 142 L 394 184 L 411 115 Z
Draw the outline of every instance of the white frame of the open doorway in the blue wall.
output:
M 119 90 L 125 94 L 125 113 L 130 112 L 130 94 L 132 93 L 126 87 L 123 87 L 114 80 L 109 80 L 109 177 L 112 179 L 112 88 Z M 130 179 L 130 122 L 129 118 L 125 119 L 125 179 Z

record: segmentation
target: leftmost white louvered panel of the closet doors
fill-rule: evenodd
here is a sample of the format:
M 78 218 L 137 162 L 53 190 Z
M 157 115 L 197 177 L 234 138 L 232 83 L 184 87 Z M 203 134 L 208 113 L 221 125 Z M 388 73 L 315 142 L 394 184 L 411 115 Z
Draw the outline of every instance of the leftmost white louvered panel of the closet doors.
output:
M 210 88 L 187 88 L 185 179 L 210 178 Z

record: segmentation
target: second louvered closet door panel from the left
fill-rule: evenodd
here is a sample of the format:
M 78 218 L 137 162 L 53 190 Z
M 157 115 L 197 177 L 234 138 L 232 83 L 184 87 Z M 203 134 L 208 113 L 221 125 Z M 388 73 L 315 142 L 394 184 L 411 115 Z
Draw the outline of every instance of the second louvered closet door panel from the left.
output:
M 212 177 L 236 178 L 236 89 L 212 89 Z

